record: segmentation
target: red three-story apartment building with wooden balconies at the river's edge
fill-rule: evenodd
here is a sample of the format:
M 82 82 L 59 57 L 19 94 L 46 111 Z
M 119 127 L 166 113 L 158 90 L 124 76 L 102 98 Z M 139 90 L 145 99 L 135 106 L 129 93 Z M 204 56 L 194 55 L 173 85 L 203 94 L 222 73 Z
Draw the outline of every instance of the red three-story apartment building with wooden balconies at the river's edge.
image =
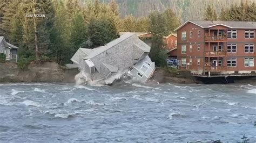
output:
M 176 31 L 179 69 L 202 77 L 256 75 L 256 22 L 191 20 Z

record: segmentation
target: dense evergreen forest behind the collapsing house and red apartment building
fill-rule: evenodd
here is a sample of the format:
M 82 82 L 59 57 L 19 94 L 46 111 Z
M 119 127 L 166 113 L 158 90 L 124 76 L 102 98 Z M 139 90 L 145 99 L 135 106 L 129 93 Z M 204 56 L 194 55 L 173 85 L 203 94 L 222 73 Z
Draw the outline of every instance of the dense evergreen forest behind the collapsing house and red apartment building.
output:
M 122 17 L 125 9 L 117 2 L 0 0 L 0 36 L 3 35 L 11 44 L 20 47 L 19 65 L 45 60 L 64 65 L 70 62 L 79 47 L 103 46 L 118 38 L 119 32 L 151 32 L 154 35 L 151 59 L 157 66 L 164 66 L 165 55 L 161 48 L 165 45 L 162 38 L 181 24 L 176 10 L 152 10 L 149 15 L 140 18 L 133 15 Z M 209 4 L 200 17 L 205 20 L 256 21 L 255 10 L 255 3 L 250 1 L 230 5 L 220 12 L 213 4 Z

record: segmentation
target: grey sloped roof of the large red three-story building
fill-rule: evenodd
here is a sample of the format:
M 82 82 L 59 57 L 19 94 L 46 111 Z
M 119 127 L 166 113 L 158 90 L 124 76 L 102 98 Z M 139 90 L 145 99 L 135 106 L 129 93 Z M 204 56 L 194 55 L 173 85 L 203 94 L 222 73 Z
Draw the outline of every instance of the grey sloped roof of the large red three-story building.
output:
M 228 28 L 252 28 L 256 29 L 256 22 L 234 22 L 234 21 L 205 21 L 205 20 L 187 20 L 184 24 L 176 28 L 177 31 L 179 28 L 183 27 L 187 23 L 193 23 L 201 28 L 210 28 L 217 25 L 223 25 Z

